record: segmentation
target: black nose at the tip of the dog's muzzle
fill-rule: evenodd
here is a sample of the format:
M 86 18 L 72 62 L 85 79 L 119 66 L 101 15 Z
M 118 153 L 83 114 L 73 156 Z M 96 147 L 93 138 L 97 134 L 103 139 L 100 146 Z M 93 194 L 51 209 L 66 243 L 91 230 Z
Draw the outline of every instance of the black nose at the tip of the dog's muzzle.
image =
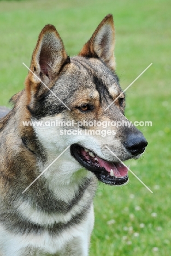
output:
M 132 155 L 139 155 L 144 152 L 145 147 L 148 145 L 148 142 L 143 135 L 129 135 L 127 141 L 125 142 L 126 149 Z

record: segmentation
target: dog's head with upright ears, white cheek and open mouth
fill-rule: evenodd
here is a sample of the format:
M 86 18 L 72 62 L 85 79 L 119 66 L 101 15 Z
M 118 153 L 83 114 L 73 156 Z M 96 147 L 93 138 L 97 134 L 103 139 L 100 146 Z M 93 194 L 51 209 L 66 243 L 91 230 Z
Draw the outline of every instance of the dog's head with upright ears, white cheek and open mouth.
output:
M 46 25 L 32 55 L 26 91 L 34 119 L 63 122 L 64 127 L 34 127 L 46 150 L 62 152 L 70 146 L 68 159 L 75 162 L 74 171 L 81 165 L 100 181 L 118 185 L 128 180 L 122 161 L 139 158 L 147 142 L 124 115 L 125 94 L 115 73 L 113 52 L 112 15 L 103 19 L 72 58 L 55 27 Z

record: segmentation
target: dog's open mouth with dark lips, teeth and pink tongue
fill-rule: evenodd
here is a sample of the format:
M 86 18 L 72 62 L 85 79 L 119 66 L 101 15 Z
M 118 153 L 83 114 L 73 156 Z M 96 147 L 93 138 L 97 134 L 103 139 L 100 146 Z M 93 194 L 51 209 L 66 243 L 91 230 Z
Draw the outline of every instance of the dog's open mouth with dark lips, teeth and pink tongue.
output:
M 105 161 L 78 144 L 73 144 L 70 152 L 82 166 L 95 173 L 101 182 L 109 185 L 122 185 L 128 181 L 128 168 L 121 162 Z

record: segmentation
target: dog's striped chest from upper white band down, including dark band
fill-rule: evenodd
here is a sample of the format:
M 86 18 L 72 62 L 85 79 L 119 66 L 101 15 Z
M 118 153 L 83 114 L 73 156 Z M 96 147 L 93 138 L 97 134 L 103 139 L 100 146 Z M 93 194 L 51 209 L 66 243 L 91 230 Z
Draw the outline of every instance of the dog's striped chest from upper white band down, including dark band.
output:
M 15 256 L 43 256 L 54 253 L 59 253 L 55 255 L 61 256 L 65 255 L 63 252 L 68 246 L 70 251 L 75 250 L 76 247 L 73 245 L 84 244 L 93 228 L 91 193 L 90 189 L 85 190 L 84 194 L 77 199 L 78 202 L 74 197 L 73 204 L 68 211 L 65 208 L 65 213 L 54 212 L 53 207 L 51 212 L 38 210 L 27 201 L 16 205 L 18 216 L 15 215 L 16 220 L 13 226 L 8 227 L 9 229 L 0 226 L 2 234 L 0 251 L 1 245 L 3 245 L 4 255 L 11 255 L 11 248 L 15 248 L 16 254 L 13 253 Z M 5 241 L 8 241 L 8 246 Z

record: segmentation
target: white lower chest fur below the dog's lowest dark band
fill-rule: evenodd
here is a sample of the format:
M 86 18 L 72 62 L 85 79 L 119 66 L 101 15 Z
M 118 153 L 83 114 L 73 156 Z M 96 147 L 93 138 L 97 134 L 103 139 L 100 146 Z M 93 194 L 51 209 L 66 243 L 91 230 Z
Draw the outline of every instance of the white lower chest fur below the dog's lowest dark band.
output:
M 48 222 L 48 217 L 47 217 Z M 81 220 L 79 224 L 68 226 L 63 229 L 60 234 L 52 235 L 48 231 L 43 231 L 41 234 L 11 234 L 7 232 L 2 226 L 0 249 L 2 255 L 35 255 L 35 256 L 46 256 L 46 255 L 57 255 L 63 256 L 69 248 L 70 252 L 75 252 L 73 255 L 83 255 L 80 251 L 81 248 L 78 246 L 80 243 L 84 244 L 87 241 L 87 237 L 90 237 L 93 229 L 93 208 L 91 207 L 87 216 Z M 8 241 L 8 245 L 7 245 Z M 77 248 L 76 248 L 77 246 Z M 0 250 L 0 251 L 1 251 Z M 76 254 L 80 252 L 80 254 Z M 1 253 L 0 253 L 1 255 Z

